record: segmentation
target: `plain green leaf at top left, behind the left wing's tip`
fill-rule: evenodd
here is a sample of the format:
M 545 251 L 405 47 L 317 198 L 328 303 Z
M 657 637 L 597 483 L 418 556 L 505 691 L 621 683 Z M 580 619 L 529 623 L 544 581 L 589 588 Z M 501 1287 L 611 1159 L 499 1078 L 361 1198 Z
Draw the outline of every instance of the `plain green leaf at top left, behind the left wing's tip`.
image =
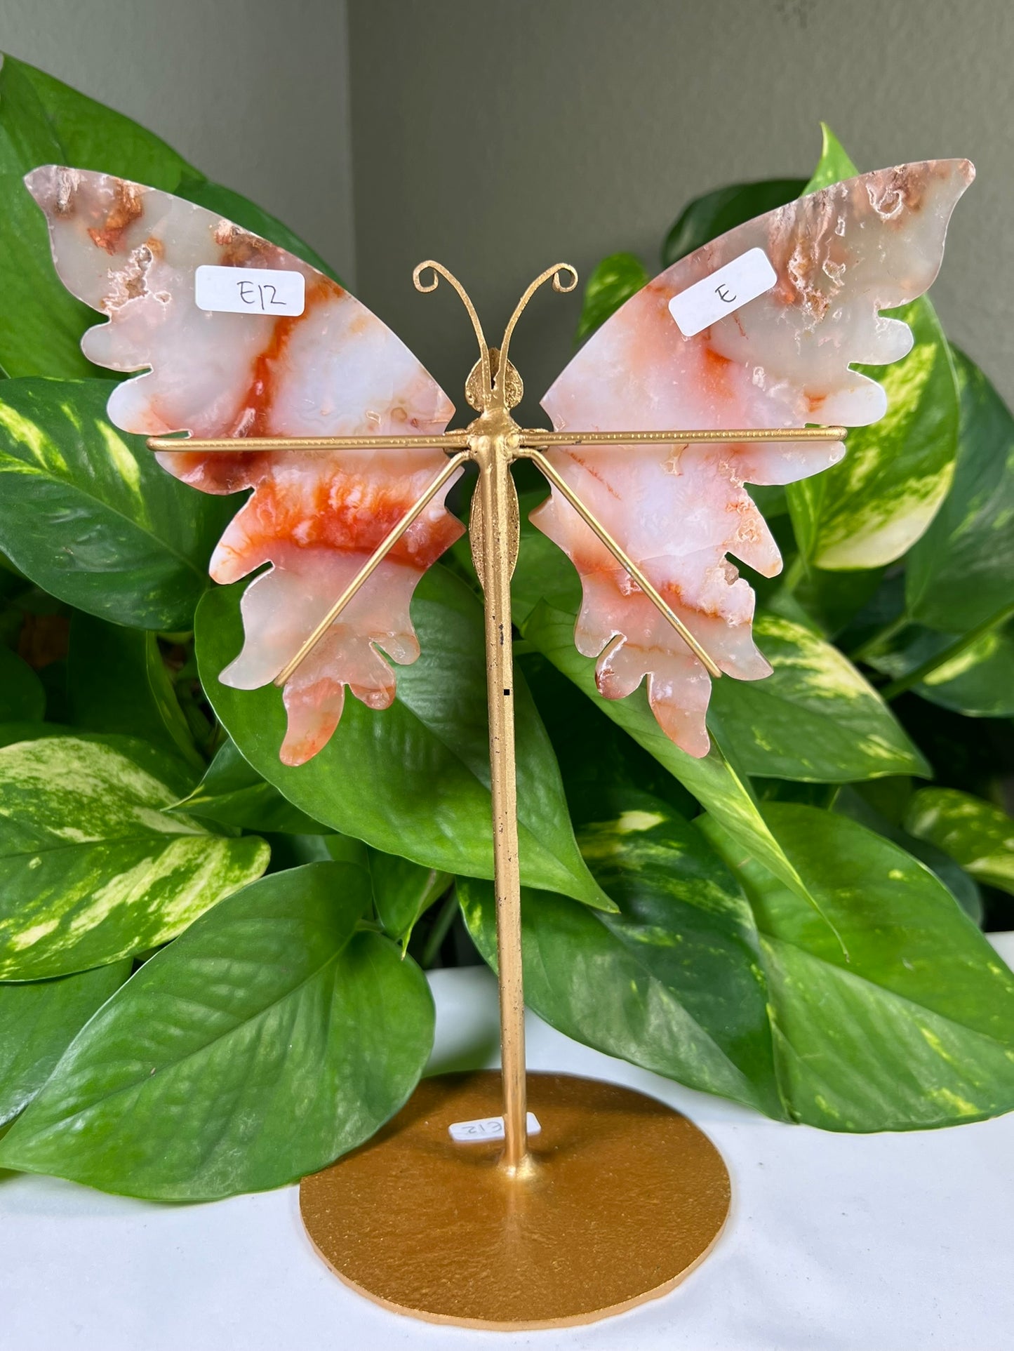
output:
M 57 277 L 42 212 L 23 177 L 38 165 L 97 169 L 173 192 L 197 176 L 130 118 L 14 57 L 0 69 L 0 365 L 8 376 L 97 374 L 81 351 L 99 323 Z

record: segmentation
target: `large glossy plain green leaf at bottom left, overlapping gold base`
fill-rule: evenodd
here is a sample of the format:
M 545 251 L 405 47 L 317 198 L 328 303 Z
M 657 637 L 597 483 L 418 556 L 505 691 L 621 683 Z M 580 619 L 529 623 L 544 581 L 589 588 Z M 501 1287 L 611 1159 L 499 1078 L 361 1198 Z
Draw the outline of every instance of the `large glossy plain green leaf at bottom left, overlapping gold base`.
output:
M 166 1201 L 292 1182 L 415 1088 L 419 967 L 358 928 L 366 873 L 311 863 L 221 901 L 135 973 L 0 1142 L 0 1165 Z

